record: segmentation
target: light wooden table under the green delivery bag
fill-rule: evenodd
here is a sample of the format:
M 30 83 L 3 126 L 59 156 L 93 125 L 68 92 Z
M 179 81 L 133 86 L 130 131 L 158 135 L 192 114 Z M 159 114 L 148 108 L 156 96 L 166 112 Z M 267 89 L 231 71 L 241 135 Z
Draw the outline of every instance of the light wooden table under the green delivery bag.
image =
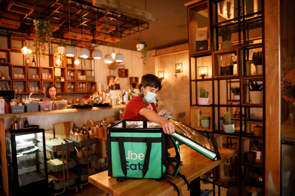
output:
M 168 150 L 171 156 L 175 156 L 174 149 Z M 200 193 L 200 176 L 205 172 L 218 166 L 220 163 L 226 161 L 235 155 L 235 150 L 219 148 L 221 160 L 212 161 L 201 153 L 191 149 L 185 144 L 180 145 L 180 156 L 183 165 L 180 166 L 179 172 L 186 176 L 186 179 L 191 183 L 191 195 Z M 160 182 L 153 179 L 140 179 L 140 180 L 124 180 L 117 182 L 116 177 L 109 177 L 108 171 L 104 171 L 88 177 L 90 183 L 99 187 L 101 190 L 108 192 L 113 196 L 119 195 L 169 195 L 176 190 L 174 187 L 162 180 Z M 181 177 L 166 177 L 167 180 L 175 183 L 179 189 L 186 185 Z M 193 193 L 193 194 L 192 194 Z

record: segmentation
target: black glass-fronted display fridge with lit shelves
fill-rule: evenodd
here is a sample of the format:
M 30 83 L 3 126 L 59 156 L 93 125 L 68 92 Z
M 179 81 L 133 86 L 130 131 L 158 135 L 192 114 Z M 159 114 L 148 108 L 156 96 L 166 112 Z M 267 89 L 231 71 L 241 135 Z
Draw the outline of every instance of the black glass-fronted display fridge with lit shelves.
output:
M 11 195 L 48 193 L 44 129 L 38 125 L 5 130 L 8 186 Z M 27 192 L 28 193 L 28 192 Z

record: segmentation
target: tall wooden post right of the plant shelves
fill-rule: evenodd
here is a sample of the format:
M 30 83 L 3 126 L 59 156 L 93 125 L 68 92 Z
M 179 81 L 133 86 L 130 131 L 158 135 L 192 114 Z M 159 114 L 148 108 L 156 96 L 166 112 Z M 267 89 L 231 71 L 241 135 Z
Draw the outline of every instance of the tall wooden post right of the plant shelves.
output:
M 280 1 L 264 1 L 265 51 L 265 175 L 264 195 L 280 195 L 281 136 L 280 136 Z

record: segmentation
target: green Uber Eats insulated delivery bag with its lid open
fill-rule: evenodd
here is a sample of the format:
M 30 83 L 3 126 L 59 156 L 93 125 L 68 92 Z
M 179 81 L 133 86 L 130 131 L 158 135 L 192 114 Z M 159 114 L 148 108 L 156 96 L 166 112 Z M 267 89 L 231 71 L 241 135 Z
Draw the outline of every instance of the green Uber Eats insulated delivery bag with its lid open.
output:
M 199 132 L 173 119 L 169 121 L 173 122 L 175 134 L 165 134 L 160 124 L 150 121 L 123 120 L 108 127 L 108 176 L 118 177 L 121 180 L 117 180 L 122 181 L 141 178 L 164 180 L 165 177 L 178 175 L 183 178 L 189 189 L 189 182 L 178 172 L 181 165 L 178 141 L 212 161 L 220 159 L 217 144 L 215 138 L 208 138 L 205 132 Z M 168 138 L 174 146 L 175 157 L 168 156 Z M 172 162 L 176 162 L 175 171 L 168 174 L 166 167 Z M 177 187 L 175 188 L 177 190 Z

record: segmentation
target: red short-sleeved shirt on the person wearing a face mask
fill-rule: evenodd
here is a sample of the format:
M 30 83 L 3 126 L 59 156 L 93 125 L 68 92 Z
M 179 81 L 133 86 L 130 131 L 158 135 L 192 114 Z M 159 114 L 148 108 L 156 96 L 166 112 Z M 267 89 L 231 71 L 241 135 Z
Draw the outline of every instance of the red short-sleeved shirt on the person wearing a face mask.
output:
M 148 102 L 145 103 L 148 106 Z M 151 105 L 153 106 L 153 110 L 157 113 L 155 104 L 151 103 Z M 139 111 L 147 106 L 145 106 L 143 103 L 142 97 L 140 95 L 133 97 L 126 106 L 122 120 L 147 120 L 146 117 L 139 114 Z

